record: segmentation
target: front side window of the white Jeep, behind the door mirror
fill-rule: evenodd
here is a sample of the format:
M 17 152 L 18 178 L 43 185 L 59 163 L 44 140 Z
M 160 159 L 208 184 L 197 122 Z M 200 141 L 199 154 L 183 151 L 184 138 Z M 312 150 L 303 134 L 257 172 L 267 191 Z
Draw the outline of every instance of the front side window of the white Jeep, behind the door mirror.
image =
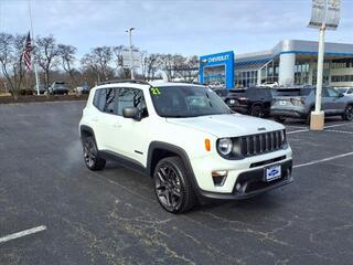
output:
M 137 107 L 142 117 L 148 116 L 143 92 L 137 88 L 120 88 L 117 114 L 122 116 L 122 109 L 126 107 Z

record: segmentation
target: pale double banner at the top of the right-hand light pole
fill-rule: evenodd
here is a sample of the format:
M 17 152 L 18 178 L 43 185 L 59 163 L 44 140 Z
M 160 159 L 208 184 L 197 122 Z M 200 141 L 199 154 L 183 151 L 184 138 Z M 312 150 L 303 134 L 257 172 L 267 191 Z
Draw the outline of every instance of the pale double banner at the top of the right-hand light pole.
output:
M 309 26 L 335 30 L 340 23 L 341 0 L 312 0 Z

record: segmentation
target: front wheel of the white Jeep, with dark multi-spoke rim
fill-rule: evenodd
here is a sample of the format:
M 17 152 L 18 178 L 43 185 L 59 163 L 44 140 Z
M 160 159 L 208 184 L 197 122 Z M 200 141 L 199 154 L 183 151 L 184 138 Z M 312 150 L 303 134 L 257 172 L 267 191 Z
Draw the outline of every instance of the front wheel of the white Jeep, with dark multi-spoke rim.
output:
M 179 157 L 161 159 L 156 166 L 153 182 L 157 200 L 165 211 L 183 213 L 194 206 L 195 193 Z

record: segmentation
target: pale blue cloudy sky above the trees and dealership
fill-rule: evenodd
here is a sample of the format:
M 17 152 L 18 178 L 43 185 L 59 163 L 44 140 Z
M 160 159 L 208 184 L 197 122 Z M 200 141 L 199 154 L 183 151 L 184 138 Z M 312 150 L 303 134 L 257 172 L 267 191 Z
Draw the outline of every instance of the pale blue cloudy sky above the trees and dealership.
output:
M 285 39 L 317 41 L 307 28 L 311 0 L 0 0 L 0 32 L 53 34 L 78 55 L 99 45 L 132 43 L 149 53 L 235 54 L 274 47 Z M 328 42 L 353 43 L 353 0 L 341 0 L 338 31 Z

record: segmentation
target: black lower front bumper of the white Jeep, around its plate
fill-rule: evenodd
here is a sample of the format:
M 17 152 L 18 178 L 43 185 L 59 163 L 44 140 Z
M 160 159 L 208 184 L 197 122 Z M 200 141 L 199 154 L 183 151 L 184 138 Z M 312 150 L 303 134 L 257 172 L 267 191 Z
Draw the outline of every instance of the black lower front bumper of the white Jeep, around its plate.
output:
M 266 182 L 264 179 L 265 169 L 258 168 L 240 173 L 234 184 L 232 193 L 211 192 L 199 189 L 199 197 L 201 197 L 201 199 L 242 200 L 292 182 L 292 160 L 286 160 L 276 165 L 281 166 L 282 176 L 279 179 Z M 240 186 L 240 189 L 236 189 L 237 184 Z

